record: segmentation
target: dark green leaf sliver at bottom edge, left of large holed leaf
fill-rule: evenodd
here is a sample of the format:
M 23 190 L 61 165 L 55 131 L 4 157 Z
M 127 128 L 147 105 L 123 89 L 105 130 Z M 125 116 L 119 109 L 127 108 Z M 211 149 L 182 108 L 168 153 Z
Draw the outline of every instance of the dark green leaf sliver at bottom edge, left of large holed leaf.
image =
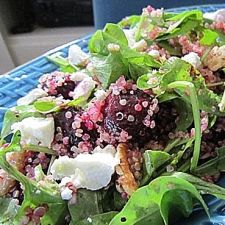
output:
M 78 223 L 71 223 L 70 225 L 109 225 L 110 221 L 118 212 L 107 212 L 90 216 L 85 220 L 79 221 Z

